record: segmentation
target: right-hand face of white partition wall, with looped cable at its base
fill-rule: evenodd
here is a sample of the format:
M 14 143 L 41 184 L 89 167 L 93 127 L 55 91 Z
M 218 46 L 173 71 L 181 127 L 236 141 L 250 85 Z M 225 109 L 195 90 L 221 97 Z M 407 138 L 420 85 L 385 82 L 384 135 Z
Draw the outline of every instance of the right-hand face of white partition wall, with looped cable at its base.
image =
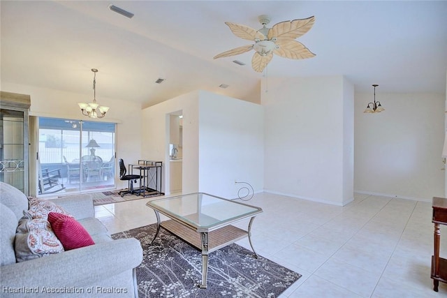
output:
M 199 111 L 200 191 L 237 198 L 247 185 L 235 181 L 263 191 L 263 107 L 200 91 Z

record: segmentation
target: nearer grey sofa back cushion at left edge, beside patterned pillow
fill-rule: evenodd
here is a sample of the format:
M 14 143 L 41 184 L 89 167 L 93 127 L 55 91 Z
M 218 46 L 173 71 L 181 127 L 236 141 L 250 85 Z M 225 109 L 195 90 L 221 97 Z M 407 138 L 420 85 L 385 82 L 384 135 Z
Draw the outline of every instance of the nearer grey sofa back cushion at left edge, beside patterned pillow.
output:
M 0 266 L 13 264 L 15 263 L 14 239 L 17 218 L 11 209 L 1 203 L 0 230 Z

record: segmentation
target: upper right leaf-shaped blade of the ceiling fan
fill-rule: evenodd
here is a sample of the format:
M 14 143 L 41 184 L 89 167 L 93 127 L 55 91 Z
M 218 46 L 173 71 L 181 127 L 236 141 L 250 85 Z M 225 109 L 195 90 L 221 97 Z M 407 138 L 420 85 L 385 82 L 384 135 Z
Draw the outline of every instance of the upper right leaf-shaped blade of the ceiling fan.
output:
M 305 35 L 312 26 L 314 26 L 315 17 L 307 17 L 307 19 L 298 19 L 293 21 L 285 21 L 275 24 L 272 29 L 268 31 L 268 39 L 276 38 L 291 38 L 295 39 Z

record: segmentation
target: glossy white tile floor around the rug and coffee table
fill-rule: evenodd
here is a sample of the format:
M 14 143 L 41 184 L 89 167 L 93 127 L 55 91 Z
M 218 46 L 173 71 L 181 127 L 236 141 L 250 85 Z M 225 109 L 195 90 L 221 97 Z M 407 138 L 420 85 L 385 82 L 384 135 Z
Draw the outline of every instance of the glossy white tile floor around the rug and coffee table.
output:
M 111 233 L 156 223 L 142 199 L 95 207 Z M 153 199 L 152 199 L 153 200 Z M 344 207 L 259 193 L 256 252 L 302 274 L 285 297 L 447 297 L 432 290 L 432 204 L 356 194 Z M 248 220 L 237 223 L 247 228 Z M 444 237 L 443 237 L 444 236 Z M 249 248 L 247 239 L 238 244 Z M 441 226 L 447 258 L 447 227 Z

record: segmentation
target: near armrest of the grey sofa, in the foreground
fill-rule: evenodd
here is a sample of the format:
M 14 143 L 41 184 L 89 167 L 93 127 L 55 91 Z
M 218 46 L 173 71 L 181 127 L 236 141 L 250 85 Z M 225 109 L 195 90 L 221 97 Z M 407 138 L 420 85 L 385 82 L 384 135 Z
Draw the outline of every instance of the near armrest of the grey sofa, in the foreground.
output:
M 142 262 L 140 241 L 117 239 L 1 267 L 1 287 L 84 288 Z

